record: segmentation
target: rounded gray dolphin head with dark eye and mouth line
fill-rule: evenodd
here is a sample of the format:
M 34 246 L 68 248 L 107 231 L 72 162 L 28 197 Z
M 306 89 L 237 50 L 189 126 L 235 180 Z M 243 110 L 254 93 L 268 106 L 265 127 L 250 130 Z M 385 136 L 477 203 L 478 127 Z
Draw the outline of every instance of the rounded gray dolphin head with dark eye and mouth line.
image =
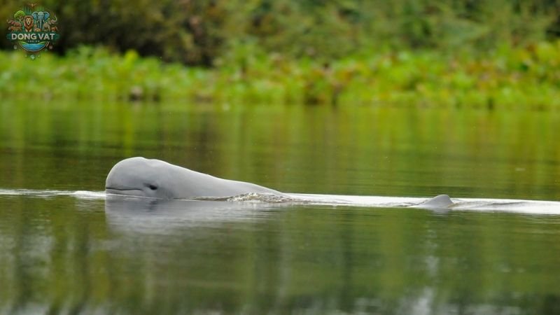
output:
M 160 160 L 128 158 L 118 162 L 107 175 L 106 193 L 172 199 L 176 180 L 174 165 Z

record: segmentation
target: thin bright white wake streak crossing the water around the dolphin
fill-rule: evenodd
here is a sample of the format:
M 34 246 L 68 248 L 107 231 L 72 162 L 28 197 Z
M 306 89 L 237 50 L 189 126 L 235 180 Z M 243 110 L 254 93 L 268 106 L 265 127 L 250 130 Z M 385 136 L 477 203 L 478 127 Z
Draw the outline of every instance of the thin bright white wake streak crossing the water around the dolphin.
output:
M 31 190 L 31 189 L 2 189 L 1 197 L 31 197 L 50 199 L 55 197 L 74 197 L 77 200 L 109 200 L 118 198 L 123 202 L 135 200 L 152 200 L 155 204 L 168 200 L 145 198 L 134 195 L 114 195 L 104 191 L 87 190 Z M 449 198 L 440 195 L 434 198 L 426 197 L 384 197 L 384 196 L 356 196 L 356 195 L 314 195 L 286 193 L 282 196 L 268 193 L 248 193 L 228 197 L 195 197 L 190 199 L 176 199 L 175 207 L 185 202 L 188 210 L 189 202 L 198 204 L 223 204 L 221 208 L 237 209 L 239 207 L 258 207 L 262 209 L 294 206 L 323 206 L 323 207 L 367 207 L 367 208 L 418 208 L 433 210 L 438 213 L 448 211 L 485 211 L 510 212 L 518 214 L 554 215 L 560 216 L 560 202 L 541 200 L 514 199 L 481 199 L 481 198 Z M 434 205 L 433 202 L 436 202 Z M 440 204 L 444 202 L 444 204 Z M 451 202 L 451 204 L 449 204 Z

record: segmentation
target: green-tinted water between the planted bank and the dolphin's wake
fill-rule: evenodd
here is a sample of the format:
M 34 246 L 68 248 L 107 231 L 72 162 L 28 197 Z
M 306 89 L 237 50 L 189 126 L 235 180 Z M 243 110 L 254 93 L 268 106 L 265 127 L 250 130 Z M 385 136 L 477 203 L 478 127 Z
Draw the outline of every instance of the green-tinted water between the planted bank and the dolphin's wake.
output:
M 102 190 L 114 163 L 141 155 L 293 193 L 557 200 L 560 189 L 556 111 L 0 105 L 3 187 Z

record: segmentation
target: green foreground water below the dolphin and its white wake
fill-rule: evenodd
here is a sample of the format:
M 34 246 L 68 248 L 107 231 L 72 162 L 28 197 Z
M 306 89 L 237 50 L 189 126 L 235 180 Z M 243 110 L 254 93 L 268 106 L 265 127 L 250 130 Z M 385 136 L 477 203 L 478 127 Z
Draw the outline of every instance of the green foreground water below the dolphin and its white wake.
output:
M 290 207 L 154 230 L 149 216 L 162 214 L 114 221 L 99 200 L 0 201 L 10 208 L 0 211 L 7 313 L 558 309 L 554 217 Z

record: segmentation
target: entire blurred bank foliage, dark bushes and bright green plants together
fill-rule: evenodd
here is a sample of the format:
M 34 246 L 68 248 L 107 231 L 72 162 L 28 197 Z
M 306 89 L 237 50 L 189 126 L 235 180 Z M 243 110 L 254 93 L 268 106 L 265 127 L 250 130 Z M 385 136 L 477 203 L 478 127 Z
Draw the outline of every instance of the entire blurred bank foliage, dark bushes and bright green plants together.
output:
M 0 0 L 6 18 L 22 7 Z M 0 95 L 195 102 L 559 105 L 560 0 L 45 0 L 41 62 Z M 8 32 L 3 28 L 3 37 Z M 8 40 L 4 50 L 13 50 Z M 41 73 L 48 73 L 44 76 Z

